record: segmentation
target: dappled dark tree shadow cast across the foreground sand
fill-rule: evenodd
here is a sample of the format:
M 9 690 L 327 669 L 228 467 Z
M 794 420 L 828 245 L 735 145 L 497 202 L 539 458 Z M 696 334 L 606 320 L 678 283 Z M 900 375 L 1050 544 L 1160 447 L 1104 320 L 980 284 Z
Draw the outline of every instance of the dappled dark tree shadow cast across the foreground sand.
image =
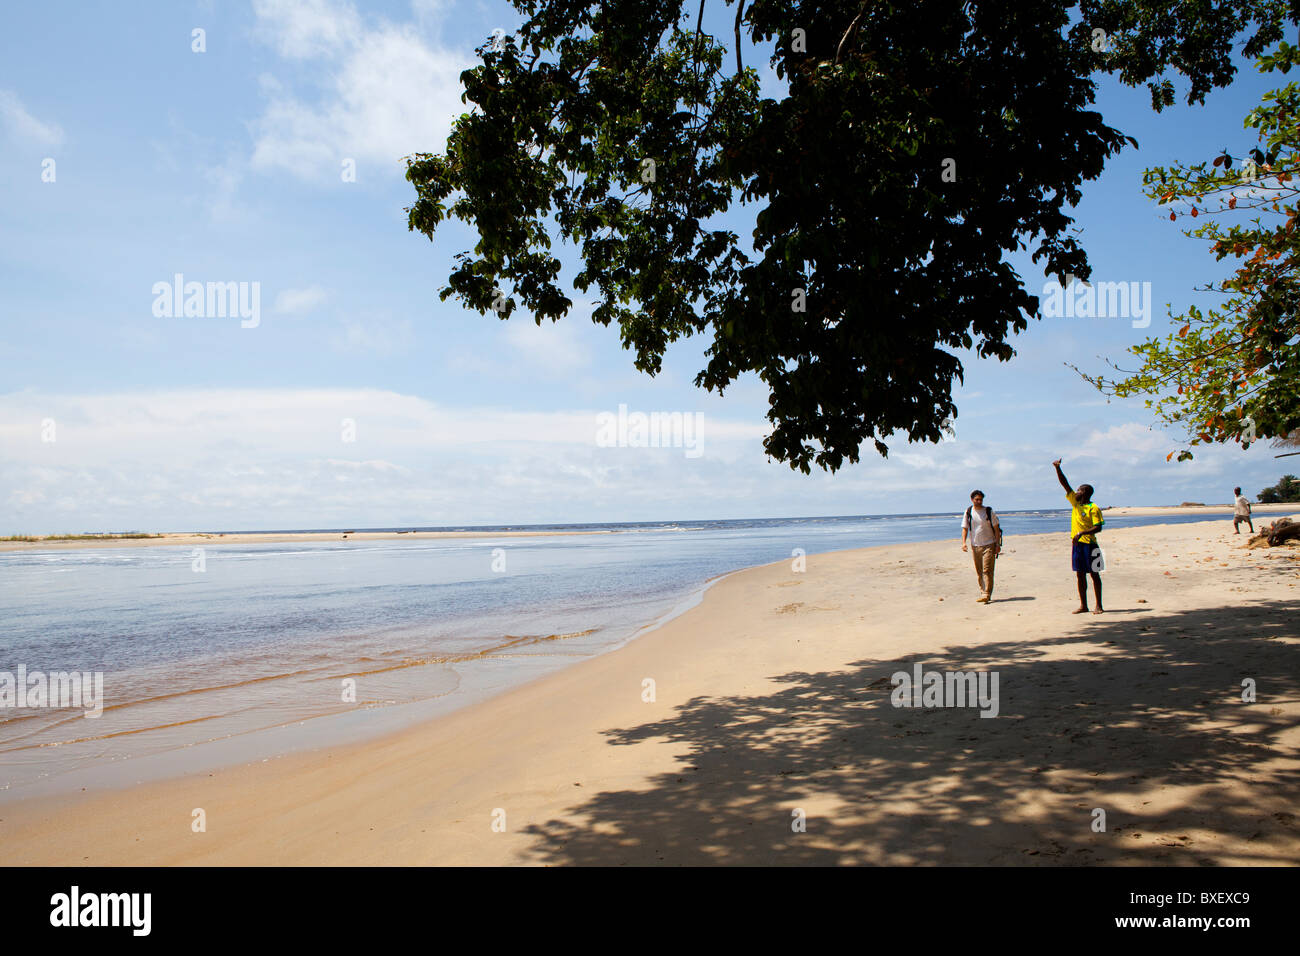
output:
M 672 741 L 685 756 L 645 790 L 528 827 L 530 852 L 601 865 L 1297 862 L 1297 821 L 1279 808 L 1300 792 L 1300 754 L 1279 743 L 1294 719 L 1278 709 L 1300 698 L 1295 604 L 1134 610 L 918 658 L 996 669 L 997 719 L 896 709 L 889 678 L 914 661 L 864 658 L 607 731 L 611 747 Z M 1244 678 L 1258 702 L 1242 701 Z M 1230 778 L 1245 787 L 1214 787 Z M 1161 788 L 1164 806 L 1145 809 Z M 1093 808 L 1106 832 L 1092 831 Z M 1230 834 L 1235 847 L 1218 849 Z

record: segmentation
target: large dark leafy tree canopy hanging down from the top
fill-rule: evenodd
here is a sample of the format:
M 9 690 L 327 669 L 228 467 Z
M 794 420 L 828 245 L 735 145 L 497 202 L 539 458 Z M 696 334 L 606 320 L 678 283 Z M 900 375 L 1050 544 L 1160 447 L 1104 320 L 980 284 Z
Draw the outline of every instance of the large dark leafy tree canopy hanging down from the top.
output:
M 480 237 L 442 298 L 559 319 L 558 235 L 638 369 L 708 336 L 696 384 L 755 372 L 764 447 L 805 472 L 867 440 L 941 437 L 954 350 L 1006 360 L 1037 315 L 1009 252 L 1089 274 L 1070 208 L 1134 142 L 1089 109 L 1098 70 L 1153 82 L 1161 107 L 1154 81 L 1176 66 L 1196 100 L 1231 77 L 1243 30 L 1264 44 L 1300 20 L 1282 0 L 737 0 L 732 69 L 705 0 L 515 5 L 517 35 L 462 74 L 473 109 L 446 153 L 407 170 L 412 230 L 432 239 L 450 216 Z M 759 95 L 742 34 L 788 96 Z M 748 242 L 728 211 L 753 217 Z

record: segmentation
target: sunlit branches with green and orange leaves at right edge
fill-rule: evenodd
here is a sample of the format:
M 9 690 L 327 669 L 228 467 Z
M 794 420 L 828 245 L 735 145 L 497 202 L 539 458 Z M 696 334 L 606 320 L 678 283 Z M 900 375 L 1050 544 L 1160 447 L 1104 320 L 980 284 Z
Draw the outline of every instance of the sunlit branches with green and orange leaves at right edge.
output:
M 1260 69 L 1286 73 L 1297 61 L 1300 48 L 1282 43 L 1260 60 Z M 1297 85 L 1266 94 L 1244 125 L 1257 130 L 1258 144 L 1240 161 L 1223 151 L 1210 161 L 1157 166 L 1144 177 L 1147 194 L 1171 207 L 1171 220 L 1200 220 L 1184 234 L 1206 241 L 1217 260 L 1238 261 L 1226 280 L 1202 287 L 1223 297 L 1222 304 L 1205 311 L 1192 306 L 1175 316 L 1176 333 L 1131 349 L 1141 364 L 1126 377 L 1084 376 L 1109 394 L 1147 395 L 1158 420 L 1186 429 L 1188 445 L 1248 447 L 1300 427 Z M 1178 458 L 1192 458 L 1192 451 L 1178 450 Z

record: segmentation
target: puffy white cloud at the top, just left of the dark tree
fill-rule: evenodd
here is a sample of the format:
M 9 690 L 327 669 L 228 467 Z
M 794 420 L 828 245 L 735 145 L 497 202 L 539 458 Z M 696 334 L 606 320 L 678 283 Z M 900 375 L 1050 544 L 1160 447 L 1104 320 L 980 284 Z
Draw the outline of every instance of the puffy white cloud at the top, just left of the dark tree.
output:
M 259 0 L 254 9 L 281 56 L 320 66 L 309 91 L 261 78 L 269 103 L 254 124 L 255 168 L 321 179 L 351 159 L 364 179 L 368 164 L 398 173 L 403 156 L 445 147 L 465 109 L 460 73 L 469 53 L 430 44 L 415 25 L 367 26 L 348 4 Z

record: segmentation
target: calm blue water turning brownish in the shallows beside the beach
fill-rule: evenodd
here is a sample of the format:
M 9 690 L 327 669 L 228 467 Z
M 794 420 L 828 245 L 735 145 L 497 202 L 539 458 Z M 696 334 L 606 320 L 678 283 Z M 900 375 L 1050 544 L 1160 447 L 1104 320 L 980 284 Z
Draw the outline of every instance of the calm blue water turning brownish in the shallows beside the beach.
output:
M 0 797 L 364 739 L 616 648 L 729 571 L 961 533 L 952 514 L 420 531 L 486 536 L 213 544 L 203 571 L 188 546 L 0 553 L 0 674 L 104 675 L 98 718 L 0 708 Z

